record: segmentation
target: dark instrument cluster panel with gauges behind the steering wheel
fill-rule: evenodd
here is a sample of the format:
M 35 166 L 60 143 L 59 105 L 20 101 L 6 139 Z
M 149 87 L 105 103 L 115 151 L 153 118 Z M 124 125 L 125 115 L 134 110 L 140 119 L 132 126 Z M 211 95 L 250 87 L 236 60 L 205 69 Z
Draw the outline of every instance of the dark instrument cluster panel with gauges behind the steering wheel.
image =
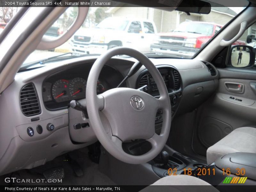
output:
M 42 85 L 42 96 L 44 105 L 49 110 L 60 110 L 67 108 L 71 100 L 85 98 L 87 78 L 92 64 L 78 66 L 76 68 L 61 70 L 47 77 Z M 123 76 L 116 69 L 106 65 L 98 79 L 97 94 L 115 88 Z M 122 85 L 122 86 L 125 86 Z

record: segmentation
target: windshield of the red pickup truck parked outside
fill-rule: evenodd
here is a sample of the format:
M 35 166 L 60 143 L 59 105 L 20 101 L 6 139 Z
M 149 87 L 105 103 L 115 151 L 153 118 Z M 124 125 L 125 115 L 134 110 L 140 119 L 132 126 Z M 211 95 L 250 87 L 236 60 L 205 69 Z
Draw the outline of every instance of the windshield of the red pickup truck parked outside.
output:
M 196 33 L 205 36 L 212 36 L 213 27 L 213 24 L 184 22 L 181 23 L 180 26 L 174 30 L 174 32 Z

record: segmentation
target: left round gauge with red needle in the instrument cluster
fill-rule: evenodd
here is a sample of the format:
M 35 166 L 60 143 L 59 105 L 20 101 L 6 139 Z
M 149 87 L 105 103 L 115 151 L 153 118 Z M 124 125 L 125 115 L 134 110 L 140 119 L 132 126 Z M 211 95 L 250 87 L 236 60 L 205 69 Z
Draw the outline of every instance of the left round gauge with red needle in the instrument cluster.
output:
M 68 80 L 60 79 L 52 85 L 52 97 L 57 102 L 68 101 Z

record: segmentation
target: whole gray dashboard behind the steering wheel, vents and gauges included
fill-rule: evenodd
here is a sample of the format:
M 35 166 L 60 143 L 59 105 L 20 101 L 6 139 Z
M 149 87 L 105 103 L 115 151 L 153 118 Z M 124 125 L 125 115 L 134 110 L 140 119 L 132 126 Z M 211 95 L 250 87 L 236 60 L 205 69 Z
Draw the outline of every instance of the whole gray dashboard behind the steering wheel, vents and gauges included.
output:
M 82 111 L 69 107 L 71 100 L 86 103 L 87 79 L 96 56 L 62 60 L 16 74 L 0 97 L 0 174 L 45 164 L 68 151 L 91 145 L 97 138 Z M 172 116 L 192 111 L 207 100 L 218 86 L 217 70 L 199 60 L 151 58 L 158 68 L 172 105 Z M 102 68 L 97 93 L 116 88 L 132 65 L 133 58 L 115 57 Z M 212 73 L 212 71 L 216 73 Z M 148 93 L 159 97 L 156 83 L 142 66 L 122 87 L 138 89 L 148 85 Z M 156 133 L 162 114 L 156 114 Z M 10 114 L 15 114 L 15 117 Z M 100 118 L 111 131 L 104 112 Z M 29 148 L 29 150 L 28 150 Z

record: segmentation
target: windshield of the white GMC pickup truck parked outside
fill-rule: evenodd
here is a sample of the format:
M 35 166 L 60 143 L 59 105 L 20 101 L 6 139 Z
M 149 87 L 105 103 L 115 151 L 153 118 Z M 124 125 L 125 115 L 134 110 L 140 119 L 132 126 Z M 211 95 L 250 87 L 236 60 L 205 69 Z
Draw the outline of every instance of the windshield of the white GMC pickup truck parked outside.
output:
M 127 27 L 128 22 L 129 22 L 128 20 L 121 20 L 121 19 L 109 17 L 101 21 L 95 28 L 114 29 L 114 30 L 123 31 Z M 111 26 L 109 25 L 109 23 L 112 23 Z

